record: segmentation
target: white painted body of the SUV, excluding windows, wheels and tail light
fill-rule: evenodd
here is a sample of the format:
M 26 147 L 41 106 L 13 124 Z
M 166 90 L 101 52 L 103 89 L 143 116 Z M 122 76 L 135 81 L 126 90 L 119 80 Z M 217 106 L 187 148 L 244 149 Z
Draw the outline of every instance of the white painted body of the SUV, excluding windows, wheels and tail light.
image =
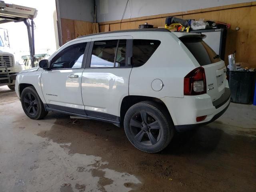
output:
M 103 120 L 120 124 L 122 104 L 130 96 L 154 98 L 164 103 L 176 130 L 183 131 L 198 124 L 215 120 L 228 107 L 226 67 L 220 60 L 202 66 L 206 76 L 204 94 L 184 95 L 184 77 L 200 64 L 182 43 L 182 36 L 198 36 L 164 30 L 128 30 L 92 34 L 76 38 L 50 56 L 49 63 L 70 45 L 98 40 L 160 40 L 160 46 L 140 67 L 24 70 L 16 77 L 16 93 L 20 98 L 26 86 L 34 86 L 48 111 Z M 90 50 L 89 50 L 90 52 Z M 90 54 L 90 53 L 89 53 Z M 90 58 L 90 57 L 89 57 Z M 71 77 L 70 77 L 71 76 Z M 72 78 L 77 76 L 78 78 Z M 225 98 L 223 98 L 225 96 Z M 214 106 L 215 105 L 215 106 Z M 216 107 L 216 105 L 218 105 Z M 197 122 L 197 117 L 206 116 Z

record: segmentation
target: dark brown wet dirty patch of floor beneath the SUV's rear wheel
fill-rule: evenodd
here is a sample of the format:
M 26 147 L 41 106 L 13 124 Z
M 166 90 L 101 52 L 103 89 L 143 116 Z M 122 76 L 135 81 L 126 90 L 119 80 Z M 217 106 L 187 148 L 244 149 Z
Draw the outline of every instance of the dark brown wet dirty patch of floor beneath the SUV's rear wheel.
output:
M 57 119 L 55 125 L 38 136 L 58 144 L 71 143 L 66 146 L 69 154 L 100 156 L 108 162 L 106 168 L 136 175 L 142 184 L 134 191 L 256 190 L 255 138 L 203 126 L 176 134 L 158 154 L 146 154 L 135 149 L 124 131 L 114 125 L 93 120 L 73 123 L 66 115 L 51 116 Z

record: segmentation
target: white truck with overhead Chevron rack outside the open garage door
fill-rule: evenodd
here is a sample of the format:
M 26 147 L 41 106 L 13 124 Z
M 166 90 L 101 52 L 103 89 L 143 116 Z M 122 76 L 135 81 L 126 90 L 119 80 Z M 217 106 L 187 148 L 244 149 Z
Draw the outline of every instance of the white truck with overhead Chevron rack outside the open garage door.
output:
M 6 22 L 24 22 L 28 30 L 30 58 L 34 67 L 34 21 L 37 10 L 35 8 L 8 4 L 0 0 L 0 24 Z M 24 64 L 14 60 L 10 50 L 8 31 L 0 29 L 0 86 L 8 85 L 11 90 L 15 88 L 17 74 L 24 70 Z

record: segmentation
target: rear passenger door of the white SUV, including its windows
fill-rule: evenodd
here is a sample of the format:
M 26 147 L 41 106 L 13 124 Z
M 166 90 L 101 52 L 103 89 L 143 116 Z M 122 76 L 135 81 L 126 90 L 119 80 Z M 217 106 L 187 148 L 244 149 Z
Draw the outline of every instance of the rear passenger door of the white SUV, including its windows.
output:
M 131 54 L 131 36 L 92 39 L 82 74 L 88 117 L 119 122 L 122 99 L 129 94 Z

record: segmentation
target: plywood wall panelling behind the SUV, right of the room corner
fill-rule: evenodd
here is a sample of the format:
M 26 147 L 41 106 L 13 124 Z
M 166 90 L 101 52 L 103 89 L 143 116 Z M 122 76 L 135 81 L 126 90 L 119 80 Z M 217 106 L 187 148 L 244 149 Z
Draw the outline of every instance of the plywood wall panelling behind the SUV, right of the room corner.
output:
M 100 32 L 104 32 L 106 25 L 109 25 L 110 31 L 136 29 L 144 22 L 148 22 L 154 27 L 164 26 L 167 16 L 176 16 L 183 19 L 204 18 L 205 20 L 230 23 L 231 27 L 227 33 L 225 63 L 228 64 L 227 56 L 236 50 L 237 62 L 246 62 L 248 67 L 256 68 L 256 2 L 132 18 L 123 20 L 122 23 L 118 20 L 102 22 L 99 23 L 99 29 Z M 236 31 L 236 26 L 240 30 Z

